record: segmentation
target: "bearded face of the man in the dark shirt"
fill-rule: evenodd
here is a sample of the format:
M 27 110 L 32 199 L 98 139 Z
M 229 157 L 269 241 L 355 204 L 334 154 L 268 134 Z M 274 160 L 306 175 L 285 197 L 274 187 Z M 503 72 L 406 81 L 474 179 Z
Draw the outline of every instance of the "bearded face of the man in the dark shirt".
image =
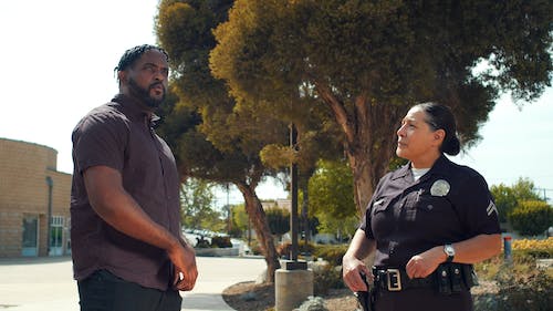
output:
M 127 70 L 127 95 L 139 100 L 147 107 L 158 107 L 167 93 L 168 74 L 165 54 L 157 50 L 146 51 Z

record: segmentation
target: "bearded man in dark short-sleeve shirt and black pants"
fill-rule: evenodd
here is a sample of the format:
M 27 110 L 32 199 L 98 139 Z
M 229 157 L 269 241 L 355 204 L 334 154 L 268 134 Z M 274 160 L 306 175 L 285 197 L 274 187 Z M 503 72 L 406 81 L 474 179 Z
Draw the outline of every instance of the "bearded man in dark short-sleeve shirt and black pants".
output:
M 168 56 L 153 45 L 127 50 L 115 68 L 119 94 L 73 131 L 71 241 L 81 310 L 180 310 L 178 290 L 198 277 L 180 236 L 179 178 L 155 134 Z

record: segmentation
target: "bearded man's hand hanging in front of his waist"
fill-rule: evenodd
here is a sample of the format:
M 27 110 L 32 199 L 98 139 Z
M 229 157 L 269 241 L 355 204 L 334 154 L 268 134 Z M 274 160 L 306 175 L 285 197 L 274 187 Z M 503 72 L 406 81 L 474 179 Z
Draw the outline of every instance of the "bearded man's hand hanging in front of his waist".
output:
M 192 290 L 198 278 L 194 249 L 180 239 L 180 243 L 171 247 L 171 249 L 167 250 L 167 253 L 173 265 L 175 265 L 173 287 L 181 291 Z

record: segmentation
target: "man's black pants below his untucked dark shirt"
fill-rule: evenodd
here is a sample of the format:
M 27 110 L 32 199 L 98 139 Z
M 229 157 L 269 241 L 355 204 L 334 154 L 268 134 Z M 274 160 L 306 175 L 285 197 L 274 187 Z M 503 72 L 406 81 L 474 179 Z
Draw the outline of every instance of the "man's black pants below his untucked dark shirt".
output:
M 182 298 L 178 291 L 145 288 L 98 270 L 79 281 L 81 311 L 178 311 Z

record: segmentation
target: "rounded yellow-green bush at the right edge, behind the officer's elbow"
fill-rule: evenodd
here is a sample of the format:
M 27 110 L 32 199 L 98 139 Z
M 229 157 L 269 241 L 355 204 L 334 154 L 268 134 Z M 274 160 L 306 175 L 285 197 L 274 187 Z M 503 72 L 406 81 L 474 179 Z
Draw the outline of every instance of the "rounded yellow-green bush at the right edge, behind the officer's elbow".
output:
M 535 236 L 543 234 L 553 225 L 552 207 L 541 200 L 522 200 L 509 214 L 513 229 L 521 235 Z

